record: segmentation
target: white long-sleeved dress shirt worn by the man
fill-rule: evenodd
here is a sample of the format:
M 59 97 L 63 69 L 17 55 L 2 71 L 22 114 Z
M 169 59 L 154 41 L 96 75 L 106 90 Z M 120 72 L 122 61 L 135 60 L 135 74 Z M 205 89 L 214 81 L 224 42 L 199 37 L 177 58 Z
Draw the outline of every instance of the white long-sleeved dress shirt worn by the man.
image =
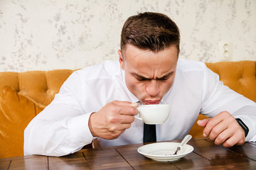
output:
M 49 106 L 31 120 L 24 132 L 24 154 L 62 156 L 93 142 L 93 147 L 142 143 L 143 122 L 115 140 L 92 137 L 88 119 L 111 101 L 137 102 L 127 89 L 119 62 L 107 61 L 74 72 Z M 256 103 L 223 86 L 218 74 L 203 62 L 179 59 L 174 84 L 161 103 L 168 103 L 168 120 L 156 125 L 157 141 L 181 139 L 191 130 L 199 113 L 213 117 L 228 111 L 250 129 L 246 140 L 256 140 Z M 254 112 L 254 113 L 253 113 Z

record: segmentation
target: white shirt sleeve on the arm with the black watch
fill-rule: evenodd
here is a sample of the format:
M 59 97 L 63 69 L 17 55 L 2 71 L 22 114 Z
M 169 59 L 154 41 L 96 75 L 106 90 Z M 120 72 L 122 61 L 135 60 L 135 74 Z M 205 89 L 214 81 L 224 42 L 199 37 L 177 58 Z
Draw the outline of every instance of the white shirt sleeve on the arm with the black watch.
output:
M 234 118 L 240 118 L 249 128 L 246 141 L 256 141 L 256 103 L 242 96 L 219 81 L 215 74 L 206 67 L 203 79 L 203 101 L 201 114 L 214 117 L 228 111 Z

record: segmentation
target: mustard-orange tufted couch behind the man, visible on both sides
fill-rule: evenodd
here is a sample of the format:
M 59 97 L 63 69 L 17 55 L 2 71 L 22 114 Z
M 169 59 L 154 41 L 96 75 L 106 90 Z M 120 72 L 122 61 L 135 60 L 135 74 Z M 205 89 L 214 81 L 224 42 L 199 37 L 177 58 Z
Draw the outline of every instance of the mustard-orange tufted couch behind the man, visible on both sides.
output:
M 256 101 L 256 62 L 206 63 L 225 85 Z M 23 130 L 58 93 L 74 70 L 0 72 L 0 158 L 23 155 Z M 199 115 L 200 119 L 204 118 Z M 202 137 L 194 125 L 190 134 Z

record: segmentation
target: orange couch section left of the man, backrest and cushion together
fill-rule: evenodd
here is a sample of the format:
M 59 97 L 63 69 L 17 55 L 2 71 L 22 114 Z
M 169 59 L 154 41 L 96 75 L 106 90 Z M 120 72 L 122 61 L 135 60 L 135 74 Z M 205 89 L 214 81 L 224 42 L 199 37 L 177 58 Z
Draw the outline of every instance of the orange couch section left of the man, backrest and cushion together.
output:
M 23 155 L 23 131 L 74 70 L 0 72 L 0 158 Z

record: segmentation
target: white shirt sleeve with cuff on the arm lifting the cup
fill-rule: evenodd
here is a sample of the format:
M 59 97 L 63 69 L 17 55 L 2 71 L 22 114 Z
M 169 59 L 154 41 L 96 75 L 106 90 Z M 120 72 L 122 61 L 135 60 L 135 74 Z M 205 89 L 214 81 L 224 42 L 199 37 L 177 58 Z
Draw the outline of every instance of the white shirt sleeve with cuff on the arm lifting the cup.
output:
M 93 140 L 88 127 L 91 113 L 81 106 L 80 74 L 74 72 L 54 100 L 24 131 L 24 155 L 63 156 L 78 151 Z

